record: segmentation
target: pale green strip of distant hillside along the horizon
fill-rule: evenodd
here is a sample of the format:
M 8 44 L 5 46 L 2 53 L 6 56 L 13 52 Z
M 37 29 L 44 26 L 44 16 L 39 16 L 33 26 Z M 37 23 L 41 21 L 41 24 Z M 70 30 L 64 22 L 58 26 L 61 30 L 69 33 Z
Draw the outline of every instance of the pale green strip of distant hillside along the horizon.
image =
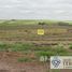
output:
M 47 25 L 54 25 L 58 21 L 69 23 L 68 20 L 53 20 L 53 19 L 1 19 L 0 26 L 17 26 L 17 25 L 38 25 L 39 23 L 45 23 Z

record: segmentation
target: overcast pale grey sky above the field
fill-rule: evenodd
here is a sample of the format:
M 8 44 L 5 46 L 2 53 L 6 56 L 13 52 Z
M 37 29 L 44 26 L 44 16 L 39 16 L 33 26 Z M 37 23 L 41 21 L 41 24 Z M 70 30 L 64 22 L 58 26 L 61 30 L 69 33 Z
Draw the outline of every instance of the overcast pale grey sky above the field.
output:
M 72 0 L 0 0 L 0 19 L 72 20 Z

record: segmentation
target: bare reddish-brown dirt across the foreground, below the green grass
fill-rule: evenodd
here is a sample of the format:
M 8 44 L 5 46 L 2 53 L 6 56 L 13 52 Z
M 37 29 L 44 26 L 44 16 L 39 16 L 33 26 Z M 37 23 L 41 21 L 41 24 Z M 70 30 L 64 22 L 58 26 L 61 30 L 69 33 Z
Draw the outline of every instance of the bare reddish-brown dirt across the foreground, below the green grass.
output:
M 0 72 L 72 72 L 72 70 L 51 70 L 48 63 L 17 62 L 19 55 L 18 53 L 0 52 Z

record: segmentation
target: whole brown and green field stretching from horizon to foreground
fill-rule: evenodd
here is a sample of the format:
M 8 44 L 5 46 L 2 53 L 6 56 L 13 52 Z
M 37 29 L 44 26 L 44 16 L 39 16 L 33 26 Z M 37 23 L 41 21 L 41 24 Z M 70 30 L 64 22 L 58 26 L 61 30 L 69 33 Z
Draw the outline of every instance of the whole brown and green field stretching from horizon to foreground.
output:
M 38 34 L 40 29 L 44 34 Z M 49 69 L 51 56 L 72 56 L 71 32 L 71 21 L 0 20 L 0 72 L 72 72 Z

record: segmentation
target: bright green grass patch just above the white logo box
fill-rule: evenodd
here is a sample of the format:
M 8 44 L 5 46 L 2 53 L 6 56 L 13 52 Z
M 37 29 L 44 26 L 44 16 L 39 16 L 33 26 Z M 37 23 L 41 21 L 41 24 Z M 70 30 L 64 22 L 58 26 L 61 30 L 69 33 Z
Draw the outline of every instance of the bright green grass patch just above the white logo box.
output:
M 63 47 L 49 48 L 48 51 L 41 51 L 37 53 L 38 56 L 47 56 L 48 58 L 51 56 L 64 56 L 66 54 L 69 55 L 69 52 Z

